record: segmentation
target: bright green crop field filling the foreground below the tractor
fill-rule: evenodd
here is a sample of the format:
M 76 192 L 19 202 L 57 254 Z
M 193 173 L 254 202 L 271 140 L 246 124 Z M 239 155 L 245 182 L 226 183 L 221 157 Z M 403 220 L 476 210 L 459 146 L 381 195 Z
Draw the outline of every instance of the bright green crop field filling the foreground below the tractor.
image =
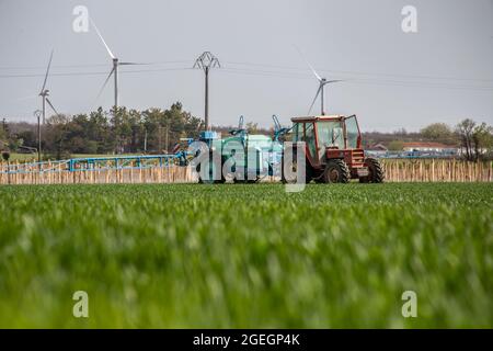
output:
M 492 297 L 491 183 L 0 188 L 1 328 L 492 328 Z

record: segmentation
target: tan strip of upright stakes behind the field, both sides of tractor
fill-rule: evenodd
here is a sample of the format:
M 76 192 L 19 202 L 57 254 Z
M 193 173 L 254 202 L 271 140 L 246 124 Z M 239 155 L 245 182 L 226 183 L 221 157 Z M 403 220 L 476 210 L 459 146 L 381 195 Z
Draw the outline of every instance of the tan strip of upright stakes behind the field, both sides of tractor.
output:
M 382 159 L 387 182 L 491 182 L 493 162 L 455 159 Z M 46 162 L 42 172 L 32 163 L 0 163 L 0 184 L 68 183 L 192 183 L 197 177 L 191 167 L 158 165 L 146 168 L 95 168 L 68 171 L 67 165 Z

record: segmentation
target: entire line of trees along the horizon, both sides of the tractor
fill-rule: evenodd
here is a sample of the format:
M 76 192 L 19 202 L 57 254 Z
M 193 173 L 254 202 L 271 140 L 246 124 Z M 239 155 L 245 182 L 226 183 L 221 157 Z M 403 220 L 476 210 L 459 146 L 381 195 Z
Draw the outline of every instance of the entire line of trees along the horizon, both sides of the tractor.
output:
M 236 126 L 234 126 L 236 127 Z M 227 135 L 233 126 L 215 126 Z M 197 138 L 204 121 L 184 111 L 180 102 L 169 109 L 144 111 L 102 107 L 89 114 L 54 115 L 42 126 L 42 150 L 46 159 L 70 158 L 73 154 L 165 154 L 172 152 L 181 138 Z M 246 123 L 249 133 L 273 135 L 273 129 Z M 466 159 L 493 158 L 493 127 L 466 118 L 456 126 L 433 123 L 419 132 L 399 129 L 393 133 L 363 133 L 364 147 L 385 145 L 402 150 L 405 141 L 437 141 L 461 148 Z M 0 149 L 18 152 L 37 150 L 37 125 L 26 122 L 7 123 L 0 127 Z

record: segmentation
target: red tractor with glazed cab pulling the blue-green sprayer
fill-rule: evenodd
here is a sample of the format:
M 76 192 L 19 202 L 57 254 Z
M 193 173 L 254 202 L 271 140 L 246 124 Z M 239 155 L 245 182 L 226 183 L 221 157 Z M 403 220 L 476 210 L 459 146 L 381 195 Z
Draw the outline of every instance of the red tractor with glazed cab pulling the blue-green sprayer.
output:
M 293 141 L 306 143 L 306 181 L 347 183 L 381 183 L 385 179 L 380 162 L 365 157 L 362 133 L 355 115 L 322 115 L 294 117 Z M 283 162 L 284 158 L 283 158 Z M 297 169 L 296 156 L 286 160 L 289 169 Z M 285 182 L 294 181 L 283 177 Z M 295 179 L 296 180 L 296 179 Z

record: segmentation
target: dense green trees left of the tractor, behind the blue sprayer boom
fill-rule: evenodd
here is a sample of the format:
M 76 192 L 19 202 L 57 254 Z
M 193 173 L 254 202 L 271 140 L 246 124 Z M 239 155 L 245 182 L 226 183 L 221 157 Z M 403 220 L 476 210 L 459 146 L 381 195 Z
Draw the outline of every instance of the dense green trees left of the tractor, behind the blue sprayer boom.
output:
M 89 114 L 54 115 L 42 126 L 45 158 L 62 159 L 72 154 L 162 154 L 180 138 L 197 138 L 204 122 L 183 110 L 180 102 L 169 109 L 116 111 L 102 107 Z M 10 151 L 37 149 L 37 125 L 25 122 L 3 124 L 3 147 Z

